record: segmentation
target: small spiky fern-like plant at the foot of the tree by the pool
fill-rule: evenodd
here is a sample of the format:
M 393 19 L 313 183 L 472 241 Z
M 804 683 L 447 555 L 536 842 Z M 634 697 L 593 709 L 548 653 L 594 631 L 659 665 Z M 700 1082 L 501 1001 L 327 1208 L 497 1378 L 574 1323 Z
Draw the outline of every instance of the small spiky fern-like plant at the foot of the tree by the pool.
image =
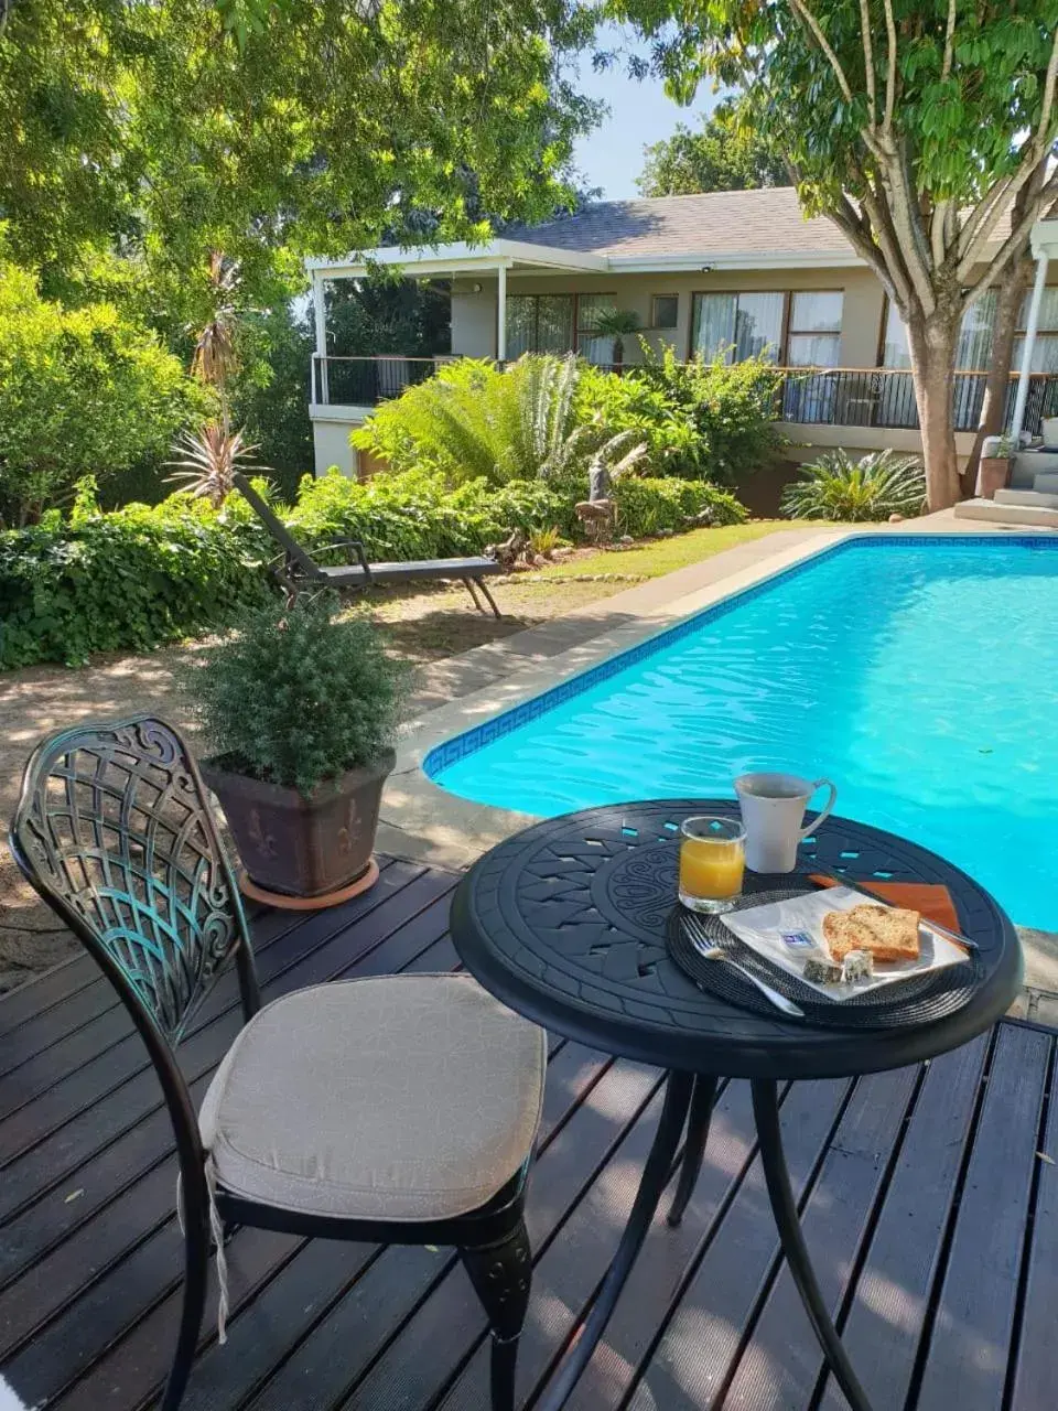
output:
M 916 456 L 872 452 L 853 460 L 846 450 L 828 452 L 801 466 L 800 480 L 783 491 L 782 511 L 791 519 L 834 519 L 846 523 L 914 518 L 925 508 L 925 473 Z

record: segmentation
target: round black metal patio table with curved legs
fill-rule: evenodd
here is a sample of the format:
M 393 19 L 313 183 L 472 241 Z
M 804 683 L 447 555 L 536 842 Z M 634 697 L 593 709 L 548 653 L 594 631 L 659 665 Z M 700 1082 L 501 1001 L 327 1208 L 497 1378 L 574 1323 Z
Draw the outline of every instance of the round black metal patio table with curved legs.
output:
M 942 1017 L 884 1029 L 838 1029 L 736 1007 L 704 992 L 664 944 L 676 902 L 679 825 L 693 814 L 736 816 L 722 799 L 662 799 L 585 809 L 539 823 L 492 848 L 453 902 L 451 937 L 471 974 L 511 1009 L 568 1038 L 667 1070 L 664 1103 L 628 1225 L 580 1338 L 537 1411 L 557 1411 L 609 1321 L 653 1222 L 680 1147 L 669 1215 L 694 1191 L 719 1078 L 749 1078 L 767 1194 L 782 1247 L 824 1355 L 853 1411 L 870 1404 L 820 1292 L 801 1235 L 779 1126 L 779 1082 L 851 1078 L 958 1048 L 1011 1005 L 1021 951 L 983 888 L 934 852 L 831 817 L 801 844 L 798 873 L 866 886 L 877 878 L 948 888 L 962 933 L 979 947 L 965 1002 Z M 745 890 L 797 885 L 746 872 Z M 959 967 L 961 969 L 962 967 Z

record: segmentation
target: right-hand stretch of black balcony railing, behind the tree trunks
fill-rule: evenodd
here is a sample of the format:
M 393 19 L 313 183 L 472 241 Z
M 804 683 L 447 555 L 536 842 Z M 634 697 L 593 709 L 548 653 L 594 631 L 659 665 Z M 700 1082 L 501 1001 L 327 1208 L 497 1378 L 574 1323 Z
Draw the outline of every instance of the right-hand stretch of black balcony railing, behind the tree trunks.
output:
M 918 430 L 914 380 L 896 368 L 783 368 L 779 419 L 800 426 L 877 426 Z M 1010 426 L 1019 374 L 1007 384 L 1004 420 Z M 956 432 L 973 432 L 985 401 L 985 373 L 956 373 L 954 422 Z M 1058 413 L 1058 373 L 1033 373 L 1023 430 L 1040 435 L 1044 416 Z

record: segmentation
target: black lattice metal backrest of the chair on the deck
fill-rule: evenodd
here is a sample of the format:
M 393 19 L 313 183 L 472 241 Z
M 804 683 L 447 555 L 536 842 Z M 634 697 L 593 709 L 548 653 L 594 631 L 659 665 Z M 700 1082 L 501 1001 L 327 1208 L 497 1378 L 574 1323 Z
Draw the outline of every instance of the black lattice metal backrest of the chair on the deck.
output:
M 41 741 L 10 842 L 28 882 L 118 991 L 152 1057 L 179 1043 L 230 955 L 244 1015 L 257 1010 L 236 878 L 195 761 L 165 721 L 137 715 Z

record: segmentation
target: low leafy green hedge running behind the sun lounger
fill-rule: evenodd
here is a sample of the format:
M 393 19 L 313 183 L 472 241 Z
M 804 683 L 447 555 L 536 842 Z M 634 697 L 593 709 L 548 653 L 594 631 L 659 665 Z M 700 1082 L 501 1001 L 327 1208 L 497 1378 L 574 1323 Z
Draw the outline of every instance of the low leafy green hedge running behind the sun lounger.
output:
M 31 529 L 0 533 L 0 669 L 151 650 L 223 626 L 268 595 L 275 546 L 241 495 L 220 512 L 179 494 L 103 514 L 83 485 L 69 519 L 51 511 Z M 614 497 L 618 529 L 633 538 L 680 529 L 704 509 L 717 523 L 745 518 L 732 495 L 701 481 L 628 477 Z M 358 484 L 332 471 L 306 477 L 296 507 L 281 512 L 309 546 L 360 539 L 370 559 L 437 559 L 481 553 L 513 528 L 573 536 L 577 498 L 539 481 L 446 491 L 436 476 Z

